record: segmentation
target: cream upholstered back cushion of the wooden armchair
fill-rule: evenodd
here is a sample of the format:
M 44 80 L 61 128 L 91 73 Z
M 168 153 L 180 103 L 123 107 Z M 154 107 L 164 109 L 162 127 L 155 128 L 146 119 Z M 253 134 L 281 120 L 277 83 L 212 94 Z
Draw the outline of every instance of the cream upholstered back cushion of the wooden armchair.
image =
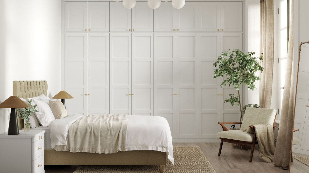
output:
M 249 126 L 255 124 L 273 124 L 276 112 L 274 109 L 247 107 L 240 130 L 253 133 L 252 128 Z

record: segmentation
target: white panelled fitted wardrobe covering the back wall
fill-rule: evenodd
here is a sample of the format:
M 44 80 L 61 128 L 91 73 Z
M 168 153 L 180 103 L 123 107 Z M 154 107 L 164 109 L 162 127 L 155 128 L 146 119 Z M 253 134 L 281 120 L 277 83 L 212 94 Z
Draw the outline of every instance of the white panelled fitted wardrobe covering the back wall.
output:
M 227 49 L 243 50 L 244 1 L 62 7 L 68 112 L 162 116 L 184 142 L 216 141 L 219 121 L 239 120 L 239 107 L 222 102 L 237 91 L 220 87 L 213 63 Z

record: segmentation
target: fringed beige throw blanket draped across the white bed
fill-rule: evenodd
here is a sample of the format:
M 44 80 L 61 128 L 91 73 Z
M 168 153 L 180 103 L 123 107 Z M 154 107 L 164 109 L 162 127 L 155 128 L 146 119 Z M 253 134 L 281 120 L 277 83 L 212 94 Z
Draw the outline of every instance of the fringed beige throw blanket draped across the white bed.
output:
M 127 151 L 127 123 L 126 114 L 83 116 L 70 125 L 66 145 L 54 149 L 106 154 Z

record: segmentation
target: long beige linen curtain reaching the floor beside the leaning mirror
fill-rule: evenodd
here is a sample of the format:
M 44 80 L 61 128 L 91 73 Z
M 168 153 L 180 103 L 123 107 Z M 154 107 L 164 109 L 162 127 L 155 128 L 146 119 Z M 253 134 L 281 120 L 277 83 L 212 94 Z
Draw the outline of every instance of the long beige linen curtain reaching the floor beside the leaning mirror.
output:
M 294 19 L 293 19 L 293 0 L 290 2 L 290 24 L 289 24 L 289 42 L 286 61 L 286 78 L 284 83 L 281 119 L 277 137 L 277 144 L 273 162 L 275 166 L 282 169 L 289 169 L 291 157 L 291 140 L 293 130 L 294 114 L 294 79 L 293 79 L 293 42 L 294 42 Z

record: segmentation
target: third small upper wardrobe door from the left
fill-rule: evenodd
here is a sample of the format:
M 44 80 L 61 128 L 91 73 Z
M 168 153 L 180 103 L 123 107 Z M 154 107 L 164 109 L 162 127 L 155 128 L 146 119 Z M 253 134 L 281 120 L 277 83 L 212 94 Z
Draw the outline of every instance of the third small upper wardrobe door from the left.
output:
M 131 32 L 131 9 L 122 2 L 109 2 L 109 31 Z

